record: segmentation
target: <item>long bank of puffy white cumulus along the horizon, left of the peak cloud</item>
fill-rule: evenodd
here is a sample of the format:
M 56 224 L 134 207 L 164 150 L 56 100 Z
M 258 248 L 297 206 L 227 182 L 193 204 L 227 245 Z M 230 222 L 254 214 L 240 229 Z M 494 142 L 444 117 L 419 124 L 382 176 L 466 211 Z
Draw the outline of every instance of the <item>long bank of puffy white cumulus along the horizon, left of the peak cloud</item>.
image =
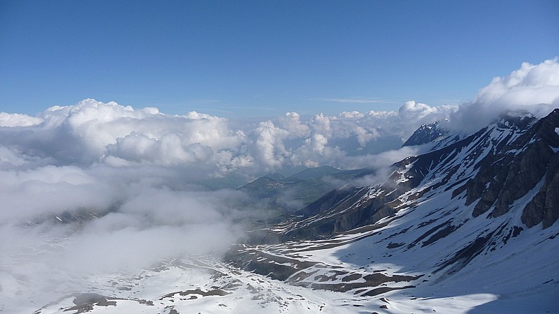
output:
M 310 118 L 287 112 L 277 119 L 245 123 L 198 112 L 169 115 L 155 107 L 136 109 L 85 99 L 75 105 L 50 107 L 38 117 L 1 116 L 0 162 L 180 165 L 208 177 L 230 172 L 252 176 L 323 163 L 344 167 L 342 156 L 361 154 L 380 137 L 405 140 L 417 126 L 448 111 L 408 102 L 399 112 L 342 112 Z M 399 145 L 395 142 L 391 148 Z

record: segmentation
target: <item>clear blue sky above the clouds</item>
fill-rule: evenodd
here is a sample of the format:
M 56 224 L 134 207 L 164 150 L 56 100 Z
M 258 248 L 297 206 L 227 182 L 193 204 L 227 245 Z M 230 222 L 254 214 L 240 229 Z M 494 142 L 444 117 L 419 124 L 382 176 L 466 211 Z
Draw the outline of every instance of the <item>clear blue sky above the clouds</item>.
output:
M 219 117 L 472 100 L 559 55 L 559 1 L 0 1 L 0 111 Z

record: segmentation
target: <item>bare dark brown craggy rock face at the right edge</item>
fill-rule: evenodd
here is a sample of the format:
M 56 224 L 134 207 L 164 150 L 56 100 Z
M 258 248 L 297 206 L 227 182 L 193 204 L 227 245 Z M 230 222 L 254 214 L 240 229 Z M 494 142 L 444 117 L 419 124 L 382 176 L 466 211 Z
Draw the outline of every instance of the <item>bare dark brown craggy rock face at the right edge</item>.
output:
M 509 128 L 512 126 L 522 132 L 528 119 L 516 117 L 516 121 L 505 120 L 505 123 L 509 123 Z M 559 110 L 555 110 L 516 140 L 507 140 L 502 148 L 497 145 L 497 149 L 480 161 L 479 172 L 465 185 L 466 204 L 479 200 L 472 212 L 474 217 L 491 208 L 490 216 L 506 214 L 511 204 L 530 192 L 546 176 L 537 196 L 525 207 L 522 221 L 532 227 L 544 220 L 544 213 L 547 217 L 544 227 L 557 220 L 559 209 L 554 206 L 557 196 L 550 187 L 558 184 L 555 165 L 559 160 L 559 135 L 554 132 L 558 126 Z

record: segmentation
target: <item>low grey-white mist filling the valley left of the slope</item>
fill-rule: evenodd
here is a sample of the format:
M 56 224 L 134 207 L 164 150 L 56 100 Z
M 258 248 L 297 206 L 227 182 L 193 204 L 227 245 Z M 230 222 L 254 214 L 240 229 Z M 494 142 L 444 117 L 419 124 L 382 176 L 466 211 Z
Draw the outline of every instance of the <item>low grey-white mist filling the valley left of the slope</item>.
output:
M 1 171 L 0 304 L 46 304 L 87 291 L 96 275 L 139 274 L 177 257 L 219 259 L 266 215 L 244 193 L 207 190 L 187 184 L 183 172 L 158 169 Z

